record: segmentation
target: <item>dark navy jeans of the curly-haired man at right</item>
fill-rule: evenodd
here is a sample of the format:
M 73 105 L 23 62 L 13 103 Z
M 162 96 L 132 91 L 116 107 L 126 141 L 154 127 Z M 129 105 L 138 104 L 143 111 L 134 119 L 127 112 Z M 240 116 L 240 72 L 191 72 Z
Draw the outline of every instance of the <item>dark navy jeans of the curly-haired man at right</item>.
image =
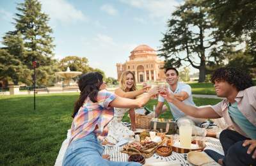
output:
M 223 130 L 220 133 L 220 143 L 225 153 L 223 165 L 256 165 L 256 159 L 252 158 L 253 152 L 247 154 L 249 146 L 243 147 L 244 140 L 248 138 L 233 130 Z

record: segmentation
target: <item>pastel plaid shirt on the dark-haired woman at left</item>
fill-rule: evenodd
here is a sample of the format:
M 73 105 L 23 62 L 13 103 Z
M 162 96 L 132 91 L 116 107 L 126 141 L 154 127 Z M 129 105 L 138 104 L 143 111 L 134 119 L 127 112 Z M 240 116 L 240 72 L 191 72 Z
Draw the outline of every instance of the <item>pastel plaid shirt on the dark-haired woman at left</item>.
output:
M 70 142 L 95 133 L 101 137 L 108 135 L 107 124 L 113 119 L 114 109 L 109 103 L 116 98 L 115 94 L 106 90 L 99 91 L 97 102 L 86 98 L 73 119 Z

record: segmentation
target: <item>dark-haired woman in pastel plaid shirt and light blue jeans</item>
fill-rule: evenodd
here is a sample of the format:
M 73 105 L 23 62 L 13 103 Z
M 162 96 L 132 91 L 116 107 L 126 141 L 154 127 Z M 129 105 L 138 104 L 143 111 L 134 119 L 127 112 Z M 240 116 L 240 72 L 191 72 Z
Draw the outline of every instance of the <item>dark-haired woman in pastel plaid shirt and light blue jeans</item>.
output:
M 104 147 L 97 137 L 108 135 L 107 124 L 114 115 L 113 107 L 143 107 L 150 97 L 158 93 L 158 87 L 150 89 L 136 100 L 122 98 L 105 89 L 102 75 L 89 72 L 81 76 L 78 86 L 81 91 L 72 117 L 71 138 L 63 158 L 63 165 L 141 165 L 135 162 L 112 162 L 102 158 Z

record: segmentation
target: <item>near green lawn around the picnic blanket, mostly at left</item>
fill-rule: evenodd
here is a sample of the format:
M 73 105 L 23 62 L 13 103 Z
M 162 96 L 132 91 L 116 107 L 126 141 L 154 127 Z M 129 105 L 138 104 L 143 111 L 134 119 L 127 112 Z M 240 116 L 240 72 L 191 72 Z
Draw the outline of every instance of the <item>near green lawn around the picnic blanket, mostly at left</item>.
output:
M 61 143 L 67 137 L 78 93 L 0 96 L 0 165 L 54 165 Z M 196 105 L 220 100 L 194 98 Z M 156 100 L 148 102 L 152 109 Z M 161 117 L 171 117 L 166 112 Z M 124 121 L 129 121 L 124 117 Z

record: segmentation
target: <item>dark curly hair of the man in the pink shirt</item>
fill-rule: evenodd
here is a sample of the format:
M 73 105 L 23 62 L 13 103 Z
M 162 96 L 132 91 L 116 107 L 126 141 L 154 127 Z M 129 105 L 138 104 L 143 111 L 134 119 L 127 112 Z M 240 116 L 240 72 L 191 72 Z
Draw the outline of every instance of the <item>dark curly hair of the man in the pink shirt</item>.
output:
M 215 80 L 227 81 L 228 84 L 234 85 L 237 91 L 243 91 L 253 86 L 250 75 L 239 68 L 218 68 L 211 76 L 212 84 L 214 84 Z

